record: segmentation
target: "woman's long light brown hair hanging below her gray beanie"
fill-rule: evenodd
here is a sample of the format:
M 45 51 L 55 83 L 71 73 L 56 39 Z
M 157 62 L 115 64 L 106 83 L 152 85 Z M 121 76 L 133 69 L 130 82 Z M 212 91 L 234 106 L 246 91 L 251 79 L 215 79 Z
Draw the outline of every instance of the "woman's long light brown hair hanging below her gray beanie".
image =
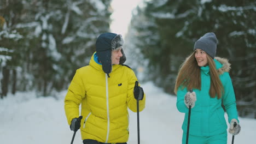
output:
M 210 97 L 221 98 L 224 92 L 224 88 L 222 82 L 219 79 L 219 74 L 216 69 L 215 62 L 213 59 L 206 53 L 206 57 L 208 60 L 208 65 L 210 67 L 210 77 L 211 77 L 211 86 L 210 86 Z M 200 67 L 197 65 L 195 52 L 191 53 L 189 57 L 185 59 L 185 62 L 182 63 L 181 67 L 179 68 L 179 72 L 177 75 L 174 93 L 177 94 L 179 86 L 184 89 L 199 89 L 201 90 L 201 70 Z

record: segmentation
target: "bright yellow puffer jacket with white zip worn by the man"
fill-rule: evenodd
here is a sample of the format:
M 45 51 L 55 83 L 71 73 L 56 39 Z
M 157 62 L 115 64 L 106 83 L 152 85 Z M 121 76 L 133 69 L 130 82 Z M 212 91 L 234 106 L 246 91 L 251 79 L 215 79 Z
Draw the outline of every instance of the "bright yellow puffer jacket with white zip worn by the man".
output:
M 95 55 L 95 53 L 94 53 Z M 129 138 L 129 113 L 137 111 L 133 88 L 137 77 L 132 69 L 113 65 L 107 76 L 102 65 L 91 57 L 90 64 L 78 69 L 71 81 L 65 98 L 68 124 L 79 117 L 82 104 L 82 140 L 92 139 L 103 143 L 127 142 Z M 145 107 L 146 96 L 139 100 L 139 111 Z

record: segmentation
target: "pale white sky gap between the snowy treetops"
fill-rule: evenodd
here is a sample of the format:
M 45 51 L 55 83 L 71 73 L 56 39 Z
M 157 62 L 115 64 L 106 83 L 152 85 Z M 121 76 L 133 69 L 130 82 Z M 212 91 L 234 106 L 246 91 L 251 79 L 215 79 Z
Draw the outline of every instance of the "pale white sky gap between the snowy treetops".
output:
M 113 8 L 111 32 L 125 37 L 131 20 L 132 9 L 136 8 L 141 2 L 142 0 L 113 0 L 111 3 Z

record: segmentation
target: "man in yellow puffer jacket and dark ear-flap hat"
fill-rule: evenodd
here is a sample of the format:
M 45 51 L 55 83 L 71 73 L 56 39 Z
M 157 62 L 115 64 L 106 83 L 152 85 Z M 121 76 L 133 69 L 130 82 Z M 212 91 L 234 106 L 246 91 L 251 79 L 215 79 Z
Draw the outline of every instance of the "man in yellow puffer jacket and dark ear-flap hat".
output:
M 80 128 L 84 144 L 126 143 L 129 113 L 145 107 L 146 95 L 135 86 L 137 77 L 127 65 L 120 34 L 103 33 L 96 40 L 90 64 L 78 69 L 65 98 L 71 130 Z M 82 105 L 79 117 L 79 105 Z

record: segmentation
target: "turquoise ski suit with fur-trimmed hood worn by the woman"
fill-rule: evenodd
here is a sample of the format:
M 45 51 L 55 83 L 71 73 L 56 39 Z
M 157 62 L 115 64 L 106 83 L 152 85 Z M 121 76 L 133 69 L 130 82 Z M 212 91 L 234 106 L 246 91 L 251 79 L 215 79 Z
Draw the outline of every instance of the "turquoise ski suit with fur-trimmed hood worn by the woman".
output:
M 224 110 L 222 108 L 222 102 L 225 106 L 226 113 L 228 113 L 228 122 L 230 123 L 232 118 L 237 119 L 236 99 L 232 86 L 232 82 L 229 76 L 230 64 L 225 58 L 216 57 L 214 59 L 216 68 L 219 73 L 220 81 L 222 81 L 224 87 L 224 94 L 222 98 L 211 98 L 210 91 L 210 68 L 209 66 L 201 67 L 201 91 L 199 89 L 193 89 L 196 93 L 196 102 L 193 109 L 191 109 L 190 115 L 190 129 L 189 136 L 197 137 L 197 139 L 190 139 L 189 144 L 200 143 L 226 143 L 226 121 L 224 117 Z M 183 143 L 187 135 L 187 123 L 188 123 L 188 107 L 184 104 L 184 96 L 188 92 L 187 88 L 178 88 L 177 91 L 177 109 L 179 112 L 185 113 L 183 121 Z M 209 142 L 211 139 L 219 139 L 222 142 Z M 224 139 L 223 139 L 224 137 Z M 202 140 L 200 140 L 200 138 Z

